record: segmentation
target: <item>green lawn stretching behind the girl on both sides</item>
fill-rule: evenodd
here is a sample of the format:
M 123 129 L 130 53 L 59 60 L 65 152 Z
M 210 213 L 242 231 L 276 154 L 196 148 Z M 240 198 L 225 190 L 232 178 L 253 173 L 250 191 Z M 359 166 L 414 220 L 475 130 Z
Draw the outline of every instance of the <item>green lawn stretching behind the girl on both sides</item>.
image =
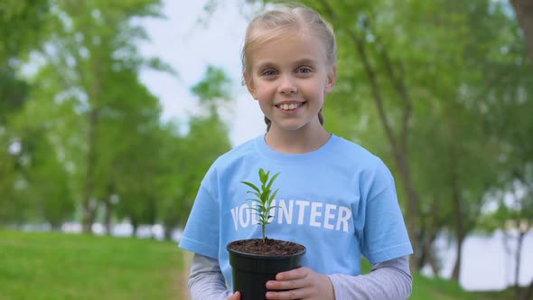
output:
M 0 230 L 0 300 L 187 300 L 191 257 L 174 242 Z M 513 298 L 417 275 L 413 285 L 410 300 Z

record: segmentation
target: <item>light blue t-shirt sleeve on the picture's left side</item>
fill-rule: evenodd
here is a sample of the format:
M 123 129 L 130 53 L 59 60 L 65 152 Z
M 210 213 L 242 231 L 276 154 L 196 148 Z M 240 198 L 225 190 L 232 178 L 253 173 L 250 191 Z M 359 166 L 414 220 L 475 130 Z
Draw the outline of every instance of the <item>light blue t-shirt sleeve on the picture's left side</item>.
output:
M 220 206 L 210 192 L 212 182 L 208 172 L 201 183 L 191 214 L 183 230 L 179 247 L 209 258 L 219 256 Z

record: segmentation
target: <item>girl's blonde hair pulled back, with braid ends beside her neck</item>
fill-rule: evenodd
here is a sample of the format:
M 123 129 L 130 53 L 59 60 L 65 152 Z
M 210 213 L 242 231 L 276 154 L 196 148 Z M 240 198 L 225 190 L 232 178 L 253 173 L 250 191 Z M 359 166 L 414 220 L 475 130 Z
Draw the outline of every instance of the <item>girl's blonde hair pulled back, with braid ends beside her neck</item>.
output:
M 264 42 L 279 38 L 294 31 L 308 31 L 317 36 L 326 50 L 327 61 L 334 65 L 337 61 L 337 42 L 332 24 L 320 14 L 304 5 L 276 5 L 273 9 L 257 15 L 246 30 L 241 52 L 244 80 L 249 74 L 248 53 Z M 318 114 L 320 123 L 324 123 L 322 109 Z M 266 131 L 270 129 L 270 120 L 265 117 Z

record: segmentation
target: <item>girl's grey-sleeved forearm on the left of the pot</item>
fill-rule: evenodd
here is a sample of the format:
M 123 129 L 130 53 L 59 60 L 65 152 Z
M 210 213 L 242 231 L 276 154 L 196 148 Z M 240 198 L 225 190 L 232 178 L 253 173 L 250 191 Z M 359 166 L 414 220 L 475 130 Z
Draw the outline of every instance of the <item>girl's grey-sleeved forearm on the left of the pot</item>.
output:
M 226 300 L 231 293 L 220 271 L 217 259 L 194 254 L 187 285 L 192 300 Z

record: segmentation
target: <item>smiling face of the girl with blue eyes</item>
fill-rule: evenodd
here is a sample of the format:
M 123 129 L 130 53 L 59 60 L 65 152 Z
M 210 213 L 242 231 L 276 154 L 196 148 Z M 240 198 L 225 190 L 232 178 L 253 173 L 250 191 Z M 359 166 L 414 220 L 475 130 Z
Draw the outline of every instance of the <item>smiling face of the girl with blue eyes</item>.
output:
M 320 125 L 318 113 L 336 76 L 321 40 L 309 33 L 285 34 L 247 54 L 247 87 L 272 121 L 270 130 Z

